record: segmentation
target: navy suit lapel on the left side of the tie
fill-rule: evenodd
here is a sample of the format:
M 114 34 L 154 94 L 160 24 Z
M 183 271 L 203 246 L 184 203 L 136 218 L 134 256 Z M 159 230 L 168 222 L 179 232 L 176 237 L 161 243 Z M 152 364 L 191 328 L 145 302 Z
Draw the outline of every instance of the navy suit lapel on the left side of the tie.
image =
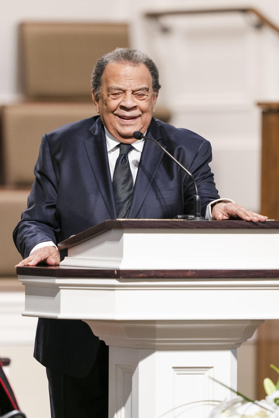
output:
M 108 162 L 108 149 L 105 130 L 100 117 L 89 128 L 90 137 L 83 140 L 97 185 L 108 209 L 111 219 L 116 219 L 113 185 Z

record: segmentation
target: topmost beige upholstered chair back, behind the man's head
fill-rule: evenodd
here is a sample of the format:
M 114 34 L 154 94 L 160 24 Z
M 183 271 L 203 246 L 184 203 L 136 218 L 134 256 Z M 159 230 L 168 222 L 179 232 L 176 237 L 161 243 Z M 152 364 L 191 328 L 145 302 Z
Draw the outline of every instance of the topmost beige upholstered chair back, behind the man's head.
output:
M 120 23 L 22 23 L 20 74 L 27 100 L 90 100 L 90 76 L 100 56 L 129 47 Z

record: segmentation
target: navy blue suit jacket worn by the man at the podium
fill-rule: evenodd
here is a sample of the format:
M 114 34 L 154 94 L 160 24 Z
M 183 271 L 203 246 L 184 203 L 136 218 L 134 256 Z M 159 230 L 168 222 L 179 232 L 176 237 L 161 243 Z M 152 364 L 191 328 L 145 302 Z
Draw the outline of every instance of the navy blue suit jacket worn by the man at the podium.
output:
M 211 146 L 199 135 L 152 119 L 147 136 L 158 140 L 195 177 L 202 214 L 218 199 L 210 171 Z M 105 131 L 100 117 L 59 127 L 44 135 L 28 207 L 14 230 L 23 257 L 39 242 L 70 235 L 116 219 Z M 195 189 L 189 176 L 146 140 L 129 218 L 171 219 L 192 213 Z M 39 319 L 34 355 L 46 367 L 76 377 L 91 370 L 99 339 L 82 321 Z

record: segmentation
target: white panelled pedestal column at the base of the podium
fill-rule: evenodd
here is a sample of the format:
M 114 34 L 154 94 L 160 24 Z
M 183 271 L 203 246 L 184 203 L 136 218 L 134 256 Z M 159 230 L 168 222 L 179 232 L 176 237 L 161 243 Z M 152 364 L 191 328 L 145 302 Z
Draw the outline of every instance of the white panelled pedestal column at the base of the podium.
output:
M 236 365 L 236 349 L 110 347 L 109 418 L 205 418 L 212 400 L 234 396 L 210 378 L 236 388 Z

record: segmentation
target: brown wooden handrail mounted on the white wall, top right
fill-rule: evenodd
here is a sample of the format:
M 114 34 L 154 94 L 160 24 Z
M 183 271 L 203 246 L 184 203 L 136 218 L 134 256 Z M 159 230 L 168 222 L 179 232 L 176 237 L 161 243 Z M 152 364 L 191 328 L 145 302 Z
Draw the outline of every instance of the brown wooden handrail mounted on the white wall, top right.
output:
M 148 12 L 145 13 L 146 18 L 159 19 L 163 16 L 174 16 L 174 15 L 197 15 L 207 13 L 253 13 L 259 19 L 261 25 L 269 26 L 276 33 L 279 34 L 279 27 L 274 25 L 266 16 L 260 13 L 254 8 L 221 8 L 221 9 L 189 9 L 189 10 L 164 10 L 160 12 Z

